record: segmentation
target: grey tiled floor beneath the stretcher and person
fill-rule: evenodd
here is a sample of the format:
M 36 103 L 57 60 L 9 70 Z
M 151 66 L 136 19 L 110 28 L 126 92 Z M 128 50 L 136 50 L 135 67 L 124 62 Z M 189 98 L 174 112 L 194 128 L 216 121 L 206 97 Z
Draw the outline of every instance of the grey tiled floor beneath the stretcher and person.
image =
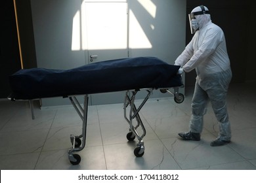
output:
M 211 106 L 205 115 L 202 141 L 182 141 L 188 130 L 192 92 L 183 103 L 173 97 L 150 99 L 140 111 L 146 127 L 145 152 L 136 158 L 137 139 L 127 142 L 129 125 L 123 104 L 89 107 L 87 141 L 71 165 L 70 134 L 81 133 L 72 106 L 35 108 L 32 120 L 26 101 L 0 100 L 0 169 L 256 169 L 256 83 L 232 84 L 228 111 L 232 142 L 211 147 L 218 125 Z M 139 101 L 138 101 L 139 102 Z

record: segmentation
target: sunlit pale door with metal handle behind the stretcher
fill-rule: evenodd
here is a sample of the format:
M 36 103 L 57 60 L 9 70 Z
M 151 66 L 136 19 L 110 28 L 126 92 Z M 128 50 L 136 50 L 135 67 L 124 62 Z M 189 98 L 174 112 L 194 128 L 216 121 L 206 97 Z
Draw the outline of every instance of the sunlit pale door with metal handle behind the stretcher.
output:
M 83 47 L 88 62 L 127 58 L 127 1 L 85 1 L 82 10 Z M 91 104 L 121 103 L 123 92 L 91 95 Z

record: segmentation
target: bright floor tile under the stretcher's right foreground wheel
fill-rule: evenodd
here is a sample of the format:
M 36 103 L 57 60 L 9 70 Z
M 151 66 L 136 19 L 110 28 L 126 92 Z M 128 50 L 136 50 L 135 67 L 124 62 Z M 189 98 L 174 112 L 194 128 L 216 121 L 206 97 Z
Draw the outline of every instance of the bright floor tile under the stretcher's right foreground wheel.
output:
M 145 141 L 142 157 L 135 157 L 136 142 L 104 146 L 108 169 L 180 169 L 159 140 Z

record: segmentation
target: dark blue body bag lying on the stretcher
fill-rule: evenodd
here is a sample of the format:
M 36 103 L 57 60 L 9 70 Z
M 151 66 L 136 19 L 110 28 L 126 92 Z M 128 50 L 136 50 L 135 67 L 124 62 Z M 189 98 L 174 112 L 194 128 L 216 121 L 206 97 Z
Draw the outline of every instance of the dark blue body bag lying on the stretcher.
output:
M 74 69 L 22 69 L 9 76 L 12 99 L 67 97 L 141 88 L 182 86 L 179 66 L 158 58 L 101 61 Z

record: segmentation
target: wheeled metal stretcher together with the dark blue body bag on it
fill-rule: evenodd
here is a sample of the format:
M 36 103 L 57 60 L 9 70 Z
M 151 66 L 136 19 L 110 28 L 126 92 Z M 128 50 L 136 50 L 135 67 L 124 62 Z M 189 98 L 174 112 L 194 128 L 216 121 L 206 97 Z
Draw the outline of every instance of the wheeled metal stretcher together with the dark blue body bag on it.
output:
M 179 93 L 179 88 L 183 86 L 181 75 L 177 75 L 179 68 L 158 58 L 139 57 L 101 61 L 68 70 L 21 69 L 9 76 L 12 90 L 9 99 L 28 100 L 32 104 L 35 99 L 68 97 L 83 121 L 81 135 L 70 135 L 72 148 L 68 150 L 68 158 L 70 163 L 77 165 L 81 157 L 74 153 L 85 148 L 89 95 L 126 91 L 123 103 L 124 118 L 129 124 L 126 137 L 128 141 L 138 139 L 134 154 L 141 157 L 144 155 L 142 139 L 146 135 L 146 129 L 139 112 L 153 90 L 173 94 L 176 103 L 184 101 L 184 95 Z M 171 89 L 174 91 L 171 92 Z M 142 90 L 146 91 L 146 95 L 137 108 L 135 97 Z M 83 95 L 83 104 L 79 103 L 77 95 Z M 139 127 L 142 129 L 140 133 Z

